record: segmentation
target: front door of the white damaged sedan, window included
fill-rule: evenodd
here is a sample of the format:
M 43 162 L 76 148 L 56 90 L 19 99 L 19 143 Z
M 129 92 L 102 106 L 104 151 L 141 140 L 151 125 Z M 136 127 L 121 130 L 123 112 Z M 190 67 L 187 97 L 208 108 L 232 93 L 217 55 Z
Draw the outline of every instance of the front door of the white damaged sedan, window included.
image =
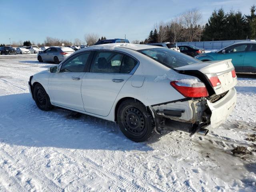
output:
M 75 54 L 59 66 L 59 72 L 50 75 L 48 90 L 53 104 L 84 111 L 81 84 L 89 56 L 90 52 Z

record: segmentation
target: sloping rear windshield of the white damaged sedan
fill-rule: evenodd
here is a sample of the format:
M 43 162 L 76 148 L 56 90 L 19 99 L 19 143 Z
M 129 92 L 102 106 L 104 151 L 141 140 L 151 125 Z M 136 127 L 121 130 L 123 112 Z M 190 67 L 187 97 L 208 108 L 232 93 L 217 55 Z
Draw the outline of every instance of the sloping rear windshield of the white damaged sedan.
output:
M 199 60 L 188 55 L 166 48 L 150 48 L 138 50 L 138 52 L 160 62 L 169 68 L 182 67 L 200 62 Z

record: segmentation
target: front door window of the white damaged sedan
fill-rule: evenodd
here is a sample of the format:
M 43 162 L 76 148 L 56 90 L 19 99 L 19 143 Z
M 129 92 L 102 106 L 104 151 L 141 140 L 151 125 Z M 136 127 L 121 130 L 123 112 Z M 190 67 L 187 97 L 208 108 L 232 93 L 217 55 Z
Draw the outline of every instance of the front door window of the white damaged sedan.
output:
M 60 68 L 60 72 L 82 73 L 85 71 L 90 52 L 76 54 L 64 62 Z

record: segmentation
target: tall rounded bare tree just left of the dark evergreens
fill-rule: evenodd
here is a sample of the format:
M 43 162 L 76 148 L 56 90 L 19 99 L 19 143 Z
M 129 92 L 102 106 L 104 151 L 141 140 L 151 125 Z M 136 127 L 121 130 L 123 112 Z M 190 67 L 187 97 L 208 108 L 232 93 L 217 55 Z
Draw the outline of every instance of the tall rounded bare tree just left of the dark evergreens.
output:
M 184 28 L 186 28 L 188 41 L 192 42 L 193 40 L 197 40 L 200 34 L 198 26 L 200 26 L 202 22 L 201 12 L 197 9 L 188 10 L 182 14 L 181 22 Z

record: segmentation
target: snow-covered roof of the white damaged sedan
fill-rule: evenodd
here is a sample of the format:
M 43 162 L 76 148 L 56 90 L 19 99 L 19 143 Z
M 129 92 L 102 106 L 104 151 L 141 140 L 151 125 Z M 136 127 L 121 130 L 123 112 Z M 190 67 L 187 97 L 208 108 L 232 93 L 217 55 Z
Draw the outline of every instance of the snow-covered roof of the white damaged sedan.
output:
M 132 43 L 110 43 L 110 44 L 101 44 L 101 45 L 93 45 L 89 47 L 85 47 L 79 50 L 120 50 L 120 48 L 127 48 L 131 50 L 142 50 L 142 49 L 150 49 L 150 48 L 160 48 L 158 46 L 151 46 L 151 45 L 145 45 L 145 44 L 132 44 Z

